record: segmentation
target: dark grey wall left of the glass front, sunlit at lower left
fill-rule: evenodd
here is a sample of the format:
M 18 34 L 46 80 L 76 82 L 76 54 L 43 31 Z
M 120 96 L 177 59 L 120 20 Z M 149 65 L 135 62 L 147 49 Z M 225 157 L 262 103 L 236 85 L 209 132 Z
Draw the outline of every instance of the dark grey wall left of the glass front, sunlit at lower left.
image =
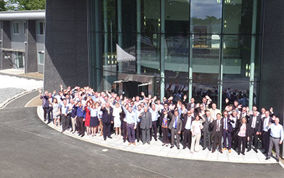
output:
M 88 85 L 86 0 L 46 1 L 44 90 Z

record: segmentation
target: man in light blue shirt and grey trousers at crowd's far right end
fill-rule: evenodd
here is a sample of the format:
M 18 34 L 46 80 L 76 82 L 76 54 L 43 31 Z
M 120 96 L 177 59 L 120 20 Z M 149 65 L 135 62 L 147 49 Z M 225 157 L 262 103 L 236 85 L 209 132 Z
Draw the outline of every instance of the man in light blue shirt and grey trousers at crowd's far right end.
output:
M 270 159 L 271 151 L 273 148 L 273 145 L 275 147 L 276 152 L 276 161 L 279 162 L 279 150 L 280 145 L 283 142 L 284 136 L 283 136 L 283 126 L 279 124 L 279 118 L 275 118 L 275 123 L 268 124 L 268 129 L 270 129 L 270 140 L 269 140 L 269 149 L 268 149 L 268 155 L 266 157 L 267 159 Z

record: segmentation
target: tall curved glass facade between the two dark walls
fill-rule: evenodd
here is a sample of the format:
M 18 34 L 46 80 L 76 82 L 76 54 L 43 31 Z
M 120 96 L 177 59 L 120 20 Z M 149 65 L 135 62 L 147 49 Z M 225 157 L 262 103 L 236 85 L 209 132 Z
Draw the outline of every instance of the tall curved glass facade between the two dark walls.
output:
M 148 92 L 161 98 L 258 103 L 262 1 L 88 0 L 88 8 L 96 90 L 121 91 L 120 75 L 148 76 Z

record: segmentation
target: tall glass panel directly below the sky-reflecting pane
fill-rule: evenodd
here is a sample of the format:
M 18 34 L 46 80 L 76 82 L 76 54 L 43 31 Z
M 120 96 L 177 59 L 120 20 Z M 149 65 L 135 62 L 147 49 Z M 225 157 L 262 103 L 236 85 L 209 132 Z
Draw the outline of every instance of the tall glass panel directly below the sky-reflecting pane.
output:
M 196 103 L 208 95 L 218 102 L 220 36 L 193 35 L 193 98 Z

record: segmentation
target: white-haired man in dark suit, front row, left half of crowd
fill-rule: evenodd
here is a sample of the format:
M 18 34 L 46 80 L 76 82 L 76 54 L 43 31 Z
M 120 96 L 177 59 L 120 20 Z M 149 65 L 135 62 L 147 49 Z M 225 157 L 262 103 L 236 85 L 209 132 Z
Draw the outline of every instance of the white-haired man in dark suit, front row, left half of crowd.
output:
M 108 138 L 111 137 L 111 124 L 113 123 L 113 108 L 110 107 L 109 103 L 102 105 L 101 111 L 103 116 L 101 121 L 103 122 L 103 139 L 106 140 L 106 132 L 108 132 Z

